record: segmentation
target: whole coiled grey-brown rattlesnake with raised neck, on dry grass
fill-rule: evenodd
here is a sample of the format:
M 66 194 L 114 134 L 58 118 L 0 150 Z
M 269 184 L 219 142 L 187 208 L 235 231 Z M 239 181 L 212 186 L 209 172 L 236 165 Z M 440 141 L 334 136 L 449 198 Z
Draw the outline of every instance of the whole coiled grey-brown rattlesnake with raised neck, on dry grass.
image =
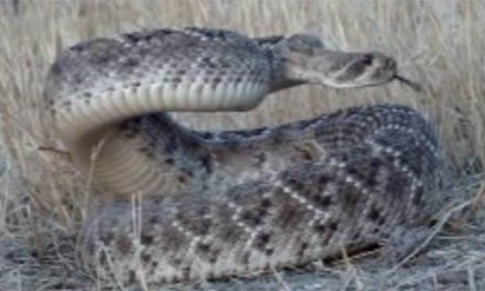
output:
M 392 79 L 409 83 L 394 58 L 331 51 L 309 34 L 165 29 L 64 51 L 45 88 L 56 134 L 117 197 L 85 222 L 83 260 L 122 282 L 220 278 L 418 227 L 440 206 L 441 158 L 433 129 L 409 107 L 218 133 L 160 112 L 249 110 L 301 84 Z M 132 194 L 144 197 L 134 207 Z

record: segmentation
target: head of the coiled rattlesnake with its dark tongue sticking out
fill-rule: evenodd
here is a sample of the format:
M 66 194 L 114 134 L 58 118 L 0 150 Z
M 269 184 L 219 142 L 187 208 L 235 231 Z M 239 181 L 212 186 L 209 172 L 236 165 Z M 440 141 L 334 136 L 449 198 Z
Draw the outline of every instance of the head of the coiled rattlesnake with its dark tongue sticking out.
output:
M 280 50 L 290 82 L 357 88 L 398 79 L 414 89 L 419 86 L 399 76 L 396 60 L 380 52 L 332 51 L 317 36 L 308 34 L 288 37 Z

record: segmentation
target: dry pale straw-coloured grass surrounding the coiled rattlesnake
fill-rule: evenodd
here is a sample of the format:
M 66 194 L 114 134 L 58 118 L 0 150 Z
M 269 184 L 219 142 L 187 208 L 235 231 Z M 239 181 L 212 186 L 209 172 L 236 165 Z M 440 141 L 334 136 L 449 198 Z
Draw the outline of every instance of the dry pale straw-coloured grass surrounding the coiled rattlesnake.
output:
M 61 158 L 37 150 L 57 146 L 42 110 L 44 76 L 60 47 L 80 40 L 183 25 L 252 35 L 311 32 L 331 46 L 396 56 L 402 74 L 424 85 L 423 94 L 398 84 L 345 91 L 302 87 L 247 114 L 179 117 L 198 128 L 240 128 L 355 104 L 408 104 L 439 129 L 456 174 L 455 202 L 473 200 L 428 251 L 392 272 L 378 259 L 352 260 L 201 289 L 485 290 L 485 2 L 31 0 L 13 11 L 11 1 L 0 0 L 0 290 L 109 290 L 87 278 L 73 256 L 73 234 L 93 191 Z

